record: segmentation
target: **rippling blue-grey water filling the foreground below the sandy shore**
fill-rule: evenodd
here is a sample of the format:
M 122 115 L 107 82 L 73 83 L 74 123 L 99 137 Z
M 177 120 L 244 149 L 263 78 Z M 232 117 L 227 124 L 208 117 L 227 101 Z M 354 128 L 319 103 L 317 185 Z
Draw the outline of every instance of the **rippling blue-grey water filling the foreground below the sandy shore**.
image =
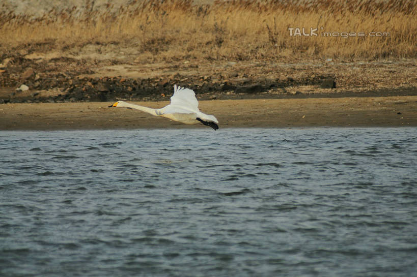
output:
M 417 129 L 0 132 L 1 276 L 412 276 Z

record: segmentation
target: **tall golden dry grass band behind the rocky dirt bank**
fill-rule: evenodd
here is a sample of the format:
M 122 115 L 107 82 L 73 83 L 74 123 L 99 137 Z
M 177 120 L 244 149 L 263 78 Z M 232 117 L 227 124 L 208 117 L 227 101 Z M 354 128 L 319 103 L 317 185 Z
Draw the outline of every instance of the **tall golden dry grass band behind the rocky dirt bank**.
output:
M 141 1 L 116 13 L 76 9 L 28 19 L 0 14 L 0 48 L 96 44 L 137 47 L 139 59 L 378 59 L 417 56 L 417 2 L 371 0 Z M 289 27 L 318 28 L 290 36 Z M 323 37 L 321 32 L 388 32 L 388 37 Z M 342 34 L 341 34 L 342 35 Z

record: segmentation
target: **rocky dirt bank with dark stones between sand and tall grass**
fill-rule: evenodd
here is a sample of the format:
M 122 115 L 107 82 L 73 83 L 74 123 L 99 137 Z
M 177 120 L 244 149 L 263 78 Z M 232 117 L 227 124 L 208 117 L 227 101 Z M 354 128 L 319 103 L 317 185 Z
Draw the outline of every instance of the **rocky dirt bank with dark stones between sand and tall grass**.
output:
M 199 100 L 417 95 L 413 59 L 147 63 L 129 45 L 49 46 L 3 53 L 0 103 L 164 101 L 174 84 Z

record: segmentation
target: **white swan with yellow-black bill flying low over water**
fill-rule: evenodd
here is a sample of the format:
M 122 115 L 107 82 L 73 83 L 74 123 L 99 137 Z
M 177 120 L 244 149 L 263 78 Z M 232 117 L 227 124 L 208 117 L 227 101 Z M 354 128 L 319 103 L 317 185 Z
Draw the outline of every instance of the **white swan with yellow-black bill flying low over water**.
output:
M 108 107 L 132 108 L 155 116 L 166 117 L 184 124 L 197 124 L 201 122 L 206 126 L 210 126 L 214 130 L 218 129 L 217 118 L 213 115 L 202 113 L 199 110 L 199 102 L 197 101 L 194 91 L 177 85 L 174 85 L 174 95 L 171 97 L 171 104 L 161 109 L 152 109 L 144 106 L 129 104 L 124 101 L 117 101 L 115 104 Z

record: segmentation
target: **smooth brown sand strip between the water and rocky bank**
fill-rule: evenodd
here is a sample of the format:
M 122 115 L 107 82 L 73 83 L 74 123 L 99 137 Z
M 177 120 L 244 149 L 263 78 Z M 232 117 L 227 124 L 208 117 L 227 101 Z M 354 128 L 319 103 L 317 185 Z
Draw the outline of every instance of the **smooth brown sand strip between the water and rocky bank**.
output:
M 159 108 L 168 102 L 134 102 Z M 208 128 L 187 126 L 110 102 L 1 104 L 0 130 Z M 223 128 L 416 127 L 417 96 L 200 101 Z

